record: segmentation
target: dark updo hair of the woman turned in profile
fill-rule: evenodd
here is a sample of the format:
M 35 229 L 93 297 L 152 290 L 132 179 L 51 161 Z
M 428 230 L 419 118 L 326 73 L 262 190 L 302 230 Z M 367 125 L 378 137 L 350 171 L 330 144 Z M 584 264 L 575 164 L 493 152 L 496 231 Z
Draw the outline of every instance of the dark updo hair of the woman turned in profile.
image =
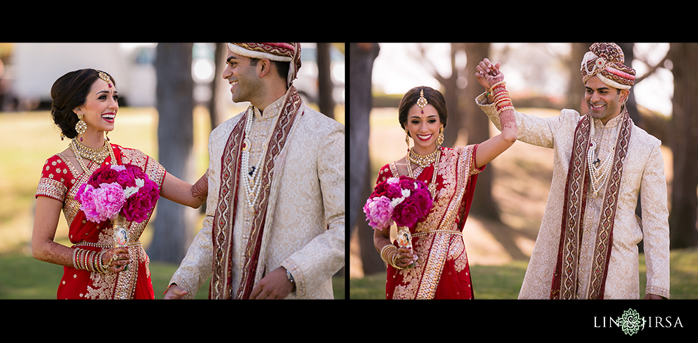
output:
M 104 73 L 104 72 L 102 72 Z M 105 73 L 109 75 L 108 73 Z M 84 105 L 87 101 L 92 85 L 99 78 L 99 71 L 95 69 L 80 69 L 79 71 L 71 71 L 66 75 L 61 76 L 53 83 L 51 87 L 51 117 L 53 122 L 61 129 L 64 136 L 72 139 L 77 137 L 75 131 L 75 123 L 77 123 L 77 115 L 73 110 Z M 117 82 L 114 81 L 112 75 L 109 75 L 112 84 L 116 87 Z

